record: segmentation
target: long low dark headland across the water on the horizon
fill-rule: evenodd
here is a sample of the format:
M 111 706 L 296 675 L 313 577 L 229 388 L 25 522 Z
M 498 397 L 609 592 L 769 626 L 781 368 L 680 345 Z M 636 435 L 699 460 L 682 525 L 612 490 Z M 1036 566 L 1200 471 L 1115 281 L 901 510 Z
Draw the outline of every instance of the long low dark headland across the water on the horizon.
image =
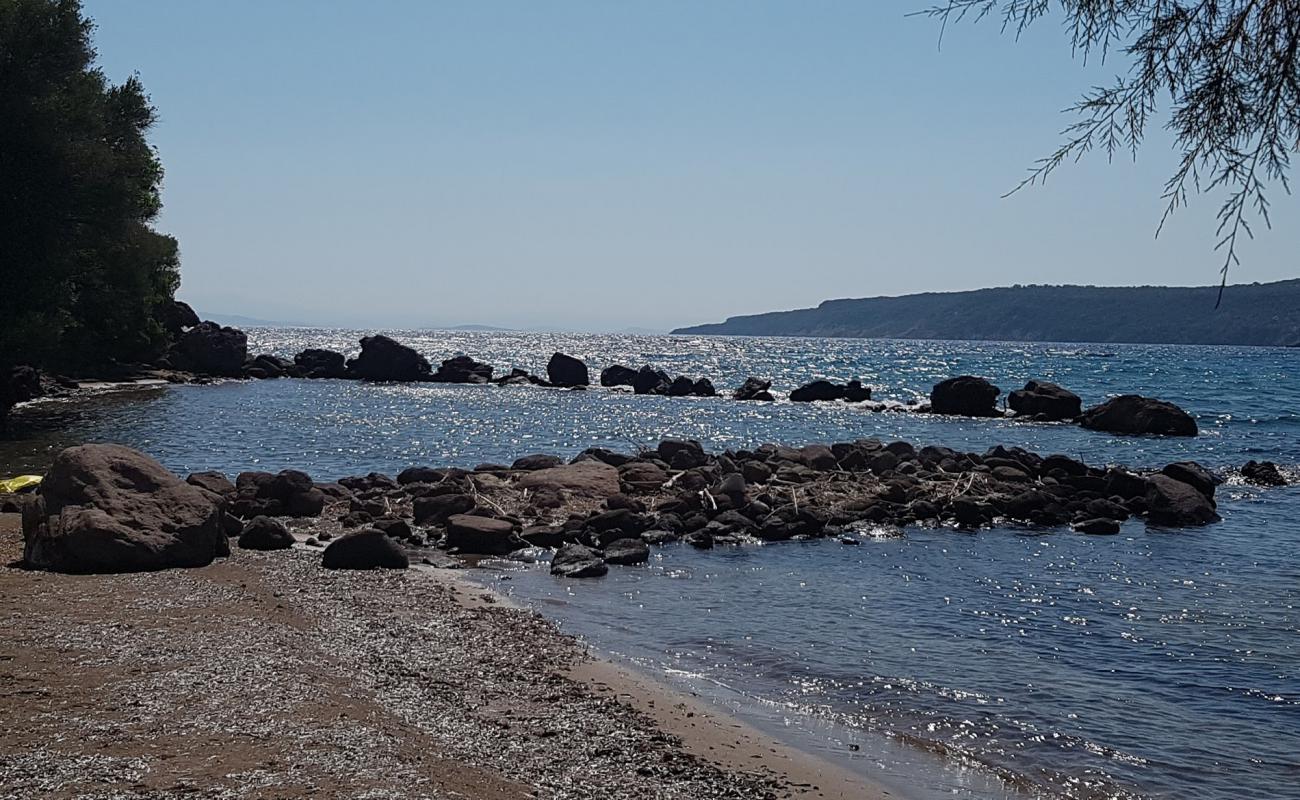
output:
M 1006 286 L 826 300 L 677 328 L 708 336 L 1294 346 L 1300 278 L 1218 286 Z

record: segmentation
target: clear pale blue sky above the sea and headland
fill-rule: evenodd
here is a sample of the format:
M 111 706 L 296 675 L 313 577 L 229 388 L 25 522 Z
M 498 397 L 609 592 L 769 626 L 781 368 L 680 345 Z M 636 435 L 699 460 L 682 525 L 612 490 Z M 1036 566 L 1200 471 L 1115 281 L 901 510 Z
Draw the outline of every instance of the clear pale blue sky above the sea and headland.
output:
M 1210 284 L 1218 198 L 1153 239 L 1173 164 L 1009 199 L 1084 65 L 1053 20 L 926 0 L 86 0 L 159 107 L 160 228 L 200 311 L 619 329 L 1008 284 Z M 1242 282 L 1300 276 L 1300 203 Z

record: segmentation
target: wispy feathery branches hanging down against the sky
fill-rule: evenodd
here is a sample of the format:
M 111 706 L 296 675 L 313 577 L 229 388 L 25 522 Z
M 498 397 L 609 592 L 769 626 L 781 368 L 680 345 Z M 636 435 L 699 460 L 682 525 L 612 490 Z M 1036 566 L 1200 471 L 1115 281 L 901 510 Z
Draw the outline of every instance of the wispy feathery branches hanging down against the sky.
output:
M 1020 186 L 1095 150 L 1136 155 L 1167 103 L 1166 127 L 1182 157 L 1165 185 L 1161 225 L 1187 204 L 1188 191 L 1222 193 L 1226 284 L 1242 235 L 1253 235 L 1252 220 L 1270 224 L 1268 190 L 1291 191 L 1291 155 L 1300 150 L 1300 0 L 948 0 L 923 13 L 945 27 L 996 17 L 1019 34 L 1054 12 L 1076 52 L 1119 52 L 1128 72 L 1070 109 L 1079 120 Z

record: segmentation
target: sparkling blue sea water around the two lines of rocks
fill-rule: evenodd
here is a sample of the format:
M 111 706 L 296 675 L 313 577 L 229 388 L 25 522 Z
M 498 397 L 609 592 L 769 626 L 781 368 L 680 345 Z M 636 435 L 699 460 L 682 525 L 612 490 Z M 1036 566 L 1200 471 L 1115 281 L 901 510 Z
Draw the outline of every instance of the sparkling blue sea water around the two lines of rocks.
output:
M 355 353 L 359 333 L 257 329 L 251 349 Z M 784 338 L 399 333 L 437 364 L 468 353 L 542 373 L 595 367 L 749 375 L 788 392 L 859 377 L 923 398 L 958 373 L 1004 390 L 1060 382 L 1086 405 L 1138 392 L 1199 420 L 1195 440 L 950 420 L 845 405 L 734 403 L 593 389 L 255 381 L 20 408 L 0 473 L 118 441 L 178 471 L 304 468 L 318 479 L 528 453 L 632 449 L 664 436 L 722 450 L 864 436 L 1089 463 L 1300 464 L 1300 350 Z M 597 649 L 706 693 L 750 722 L 918 797 L 1300 797 L 1300 488 L 1219 488 L 1223 523 L 1119 536 L 906 529 L 859 546 L 666 546 L 593 581 L 545 565 L 477 578 Z

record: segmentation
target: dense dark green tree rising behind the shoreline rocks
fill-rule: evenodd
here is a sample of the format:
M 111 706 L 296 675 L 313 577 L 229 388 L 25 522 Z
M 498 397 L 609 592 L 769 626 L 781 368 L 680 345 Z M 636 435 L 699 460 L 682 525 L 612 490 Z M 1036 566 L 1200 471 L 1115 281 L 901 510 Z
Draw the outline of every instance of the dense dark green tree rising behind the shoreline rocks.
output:
M 0 0 L 0 363 L 156 355 L 179 282 L 138 78 L 95 66 L 79 0 Z

